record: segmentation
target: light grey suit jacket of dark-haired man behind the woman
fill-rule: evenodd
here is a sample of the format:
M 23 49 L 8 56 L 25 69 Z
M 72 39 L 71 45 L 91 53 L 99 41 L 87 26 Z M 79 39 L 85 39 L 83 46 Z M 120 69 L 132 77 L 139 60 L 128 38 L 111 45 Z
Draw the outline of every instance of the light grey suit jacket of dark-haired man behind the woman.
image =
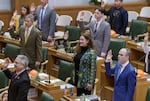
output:
M 106 53 L 109 43 L 110 43 L 110 25 L 106 21 L 102 21 L 97 28 L 96 33 L 94 34 L 94 25 L 96 24 L 95 20 L 92 20 L 88 25 L 84 25 L 83 21 L 79 21 L 79 26 L 82 30 L 89 29 L 91 32 L 91 36 L 93 38 L 93 42 L 96 48 L 97 55 L 101 55 L 101 53 Z

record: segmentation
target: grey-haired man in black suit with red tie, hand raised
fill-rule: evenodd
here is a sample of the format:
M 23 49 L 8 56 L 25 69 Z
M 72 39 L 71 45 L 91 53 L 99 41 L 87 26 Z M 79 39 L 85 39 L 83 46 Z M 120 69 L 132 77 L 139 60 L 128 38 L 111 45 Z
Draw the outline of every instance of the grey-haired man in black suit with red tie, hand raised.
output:
M 14 61 L 15 71 L 10 72 L 8 67 L 9 60 L 3 66 L 3 72 L 11 79 L 8 89 L 8 101 L 27 101 L 27 94 L 30 88 L 30 79 L 26 67 L 28 58 L 25 55 L 18 55 Z

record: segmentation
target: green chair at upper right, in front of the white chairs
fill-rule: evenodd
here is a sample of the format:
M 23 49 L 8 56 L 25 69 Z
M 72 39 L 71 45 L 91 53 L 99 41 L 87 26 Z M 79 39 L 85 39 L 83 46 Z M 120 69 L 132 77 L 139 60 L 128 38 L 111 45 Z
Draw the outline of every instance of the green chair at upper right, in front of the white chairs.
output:
M 141 36 L 141 34 L 144 34 L 145 32 L 147 32 L 147 26 L 148 26 L 148 23 L 146 21 L 132 20 L 130 31 L 129 31 L 132 37 L 132 40 L 135 40 L 136 37 L 137 37 L 136 40 L 139 40 L 139 37 Z

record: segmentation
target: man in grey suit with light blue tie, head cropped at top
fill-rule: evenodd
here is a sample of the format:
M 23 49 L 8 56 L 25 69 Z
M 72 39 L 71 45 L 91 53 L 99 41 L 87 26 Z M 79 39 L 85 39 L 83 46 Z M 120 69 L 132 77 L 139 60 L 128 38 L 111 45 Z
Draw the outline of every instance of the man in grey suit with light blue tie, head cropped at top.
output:
M 42 5 L 36 9 L 37 26 L 42 32 L 42 40 L 52 41 L 56 27 L 56 12 L 48 5 L 48 0 L 41 0 Z

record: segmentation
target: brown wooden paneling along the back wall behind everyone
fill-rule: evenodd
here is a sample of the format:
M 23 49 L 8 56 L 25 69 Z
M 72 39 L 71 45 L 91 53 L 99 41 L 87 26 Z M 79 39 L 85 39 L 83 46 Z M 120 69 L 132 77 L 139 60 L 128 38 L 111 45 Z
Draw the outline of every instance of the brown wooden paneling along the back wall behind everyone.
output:
M 35 5 L 40 4 L 40 0 L 12 0 L 12 11 L 0 11 L 0 19 L 5 22 L 4 30 L 6 31 L 9 25 L 10 18 L 12 16 L 12 12 L 16 9 L 20 11 L 21 5 L 28 4 L 30 5 L 32 2 L 35 3 Z M 106 5 L 106 9 L 110 8 L 113 4 Z M 127 10 L 133 10 L 140 12 L 141 8 L 143 6 L 150 5 L 148 2 L 130 2 L 130 3 L 123 3 L 124 8 Z M 55 7 L 56 12 L 61 14 L 68 14 L 73 17 L 73 22 L 71 25 L 77 25 L 76 24 L 76 17 L 78 14 L 78 11 L 80 10 L 89 10 L 94 12 L 94 10 L 98 6 L 95 5 L 80 5 L 80 6 L 62 6 L 62 7 Z

